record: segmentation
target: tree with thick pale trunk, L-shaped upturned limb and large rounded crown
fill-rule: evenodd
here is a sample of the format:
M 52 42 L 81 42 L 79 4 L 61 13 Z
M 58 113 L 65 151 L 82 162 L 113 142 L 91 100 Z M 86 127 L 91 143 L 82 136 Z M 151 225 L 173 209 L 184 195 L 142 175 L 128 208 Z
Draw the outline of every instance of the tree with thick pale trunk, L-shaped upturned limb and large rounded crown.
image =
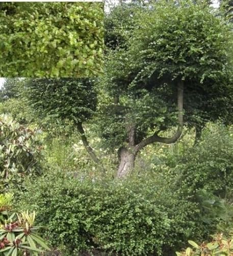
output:
M 105 89 L 118 101 L 104 115 L 120 129 L 103 130 L 102 137 L 116 138 L 112 146 L 120 147 L 120 177 L 132 169 L 144 146 L 177 141 L 184 122 L 202 127 L 231 112 L 230 31 L 208 4 L 196 2 L 158 1 L 143 7 L 127 49 L 109 52 Z M 174 125 L 174 136 L 159 135 Z

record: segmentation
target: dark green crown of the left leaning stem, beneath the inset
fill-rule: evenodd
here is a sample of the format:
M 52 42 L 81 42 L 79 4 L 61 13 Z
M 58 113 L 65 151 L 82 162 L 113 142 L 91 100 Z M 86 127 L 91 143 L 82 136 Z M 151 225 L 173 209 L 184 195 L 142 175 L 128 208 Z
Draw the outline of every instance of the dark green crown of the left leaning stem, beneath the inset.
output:
M 89 119 L 95 111 L 93 83 L 89 78 L 27 79 L 21 93 L 40 118 L 67 119 L 77 124 Z

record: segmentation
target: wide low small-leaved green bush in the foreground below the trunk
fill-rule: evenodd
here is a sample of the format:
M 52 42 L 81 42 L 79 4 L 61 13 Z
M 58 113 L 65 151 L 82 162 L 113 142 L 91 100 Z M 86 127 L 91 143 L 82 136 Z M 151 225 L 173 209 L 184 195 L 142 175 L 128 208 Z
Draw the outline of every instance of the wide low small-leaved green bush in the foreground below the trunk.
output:
M 28 184 L 16 204 L 18 210 L 35 210 L 38 224 L 47 227 L 44 238 L 68 255 L 92 248 L 169 255 L 193 235 L 208 234 L 197 204 L 180 198 L 166 182 L 62 176 L 50 173 Z

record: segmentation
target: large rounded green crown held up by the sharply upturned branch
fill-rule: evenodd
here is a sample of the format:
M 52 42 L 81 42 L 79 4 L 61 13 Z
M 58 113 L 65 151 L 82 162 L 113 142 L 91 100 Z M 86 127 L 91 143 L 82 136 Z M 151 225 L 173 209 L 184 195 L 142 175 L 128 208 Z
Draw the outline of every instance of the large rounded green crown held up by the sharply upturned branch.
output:
M 203 125 L 219 117 L 229 120 L 232 35 L 224 20 L 201 1 L 159 1 L 133 17 L 127 49 L 110 50 L 106 90 L 121 97 L 130 92 L 137 100 L 139 91 L 156 92 L 171 113 L 176 110 L 177 82 L 183 81 L 185 122 Z M 161 101 L 157 100 L 160 108 Z M 156 113 L 147 112 L 150 117 L 160 116 Z M 163 128 L 158 125 L 158 131 Z

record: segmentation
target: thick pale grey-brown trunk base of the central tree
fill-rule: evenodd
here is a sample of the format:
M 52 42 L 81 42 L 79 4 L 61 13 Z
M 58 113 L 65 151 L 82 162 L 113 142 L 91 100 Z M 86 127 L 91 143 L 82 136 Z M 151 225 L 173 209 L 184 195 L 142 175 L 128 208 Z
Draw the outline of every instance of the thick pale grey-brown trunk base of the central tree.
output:
M 130 171 L 134 168 L 135 154 L 131 153 L 127 148 L 122 147 L 118 152 L 119 166 L 117 177 L 122 178 L 127 176 Z

